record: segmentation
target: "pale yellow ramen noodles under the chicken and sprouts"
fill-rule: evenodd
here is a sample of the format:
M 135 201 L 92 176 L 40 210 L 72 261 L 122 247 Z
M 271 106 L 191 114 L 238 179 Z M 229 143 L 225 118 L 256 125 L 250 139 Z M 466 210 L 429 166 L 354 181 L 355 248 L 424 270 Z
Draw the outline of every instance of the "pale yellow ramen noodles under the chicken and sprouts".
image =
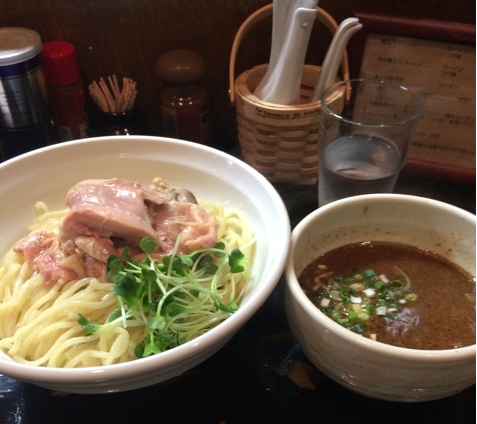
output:
M 254 234 L 243 213 L 226 211 L 220 204 L 200 204 L 216 217 L 219 241 L 226 250 L 240 248 L 251 259 Z M 29 230 L 58 231 L 65 213 L 50 212 L 39 202 Z M 249 277 L 229 273 L 221 281 L 220 295 L 240 302 Z M 127 328 L 107 326 L 86 334 L 77 321 L 81 313 L 91 321 L 106 322 L 118 307 L 113 286 L 83 278 L 45 287 L 43 277 L 11 249 L 0 268 L 0 348 L 17 362 L 48 367 L 99 366 L 136 359 L 134 348 L 144 336 L 141 323 L 133 319 L 127 321 Z

